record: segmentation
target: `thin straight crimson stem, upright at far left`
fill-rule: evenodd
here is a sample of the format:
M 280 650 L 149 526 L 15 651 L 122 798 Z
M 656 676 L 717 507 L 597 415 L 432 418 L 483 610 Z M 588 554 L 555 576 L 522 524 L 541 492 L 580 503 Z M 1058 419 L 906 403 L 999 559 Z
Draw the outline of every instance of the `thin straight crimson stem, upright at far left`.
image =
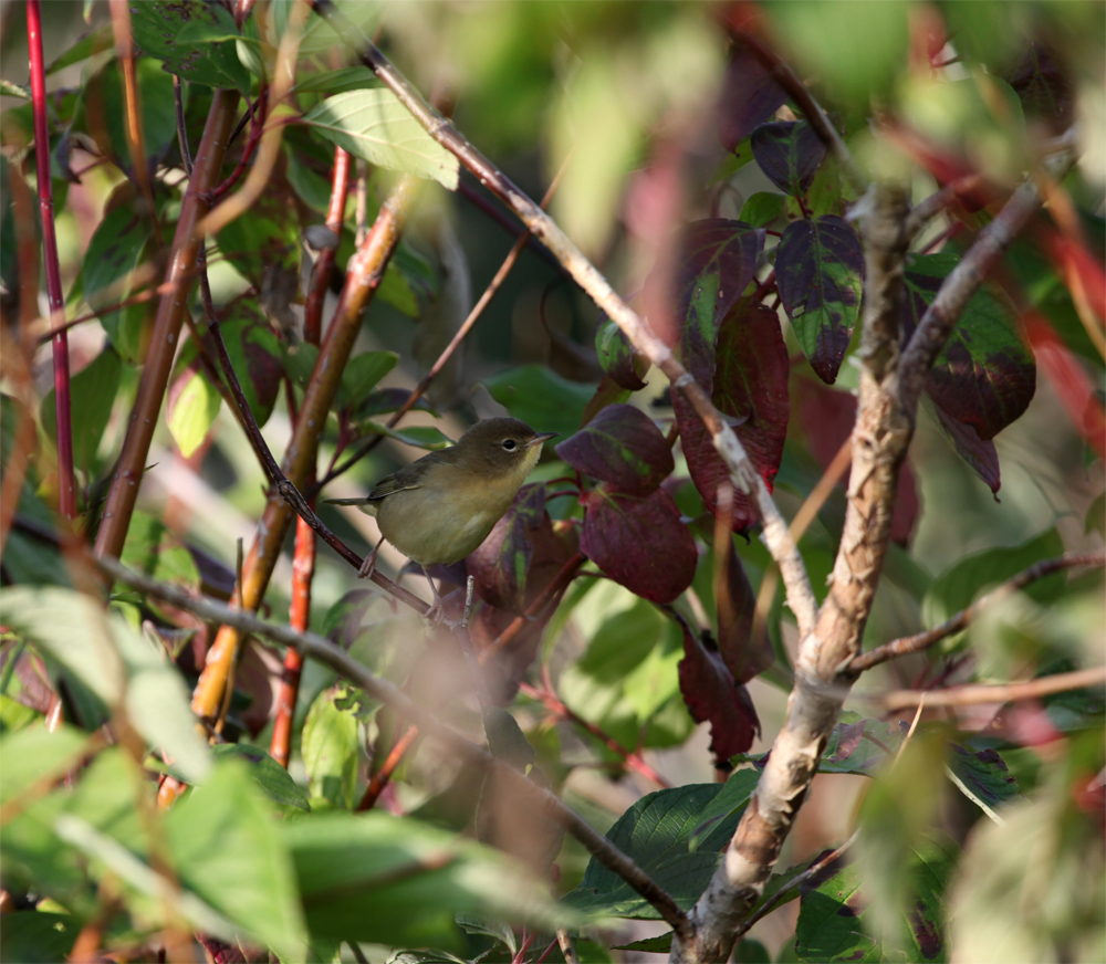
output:
M 42 221 L 42 254 L 46 265 L 46 297 L 50 324 L 65 317 L 62 272 L 58 263 L 54 231 L 54 196 L 50 180 L 50 132 L 46 126 L 46 75 L 42 59 L 42 6 L 27 0 L 27 45 L 31 60 L 31 103 L 34 113 L 34 160 L 39 181 L 39 217 Z M 69 335 L 64 329 L 53 338 L 54 415 L 58 425 L 58 490 L 62 515 L 76 517 L 76 482 L 73 478 L 73 423 L 70 411 Z

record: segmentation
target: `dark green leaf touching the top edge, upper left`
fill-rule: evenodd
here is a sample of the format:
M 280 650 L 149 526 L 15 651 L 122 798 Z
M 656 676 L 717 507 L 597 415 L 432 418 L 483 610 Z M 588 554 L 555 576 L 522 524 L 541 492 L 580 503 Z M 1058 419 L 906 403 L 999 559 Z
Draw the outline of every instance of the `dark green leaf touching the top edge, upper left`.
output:
M 234 19 L 222 7 L 202 0 L 146 0 L 133 6 L 131 31 L 144 53 L 164 61 L 165 70 L 181 80 L 250 93 L 252 78 L 236 42 L 208 40 L 239 36 Z

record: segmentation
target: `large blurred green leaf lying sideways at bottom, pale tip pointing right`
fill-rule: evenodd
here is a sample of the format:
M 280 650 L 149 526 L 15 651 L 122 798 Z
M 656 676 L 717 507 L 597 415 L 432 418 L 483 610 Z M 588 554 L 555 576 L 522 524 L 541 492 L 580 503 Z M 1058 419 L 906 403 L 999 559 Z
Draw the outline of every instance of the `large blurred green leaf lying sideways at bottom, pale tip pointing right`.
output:
M 312 936 L 462 950 L 457 914 L 574 923 L 499 851 L 409 817 L 322 814 L 283 827 Z

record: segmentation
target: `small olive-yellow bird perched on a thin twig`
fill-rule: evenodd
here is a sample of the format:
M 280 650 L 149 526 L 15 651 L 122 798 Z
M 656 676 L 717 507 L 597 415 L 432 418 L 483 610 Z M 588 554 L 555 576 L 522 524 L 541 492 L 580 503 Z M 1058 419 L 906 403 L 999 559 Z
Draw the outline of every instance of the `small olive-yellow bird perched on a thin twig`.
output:
M 488 537 L 538 464 L 542 443 L 555 436 L 535 432 L 517 418 L 484 419 L 456 446 L 382 479 L 364 499 L 325 500 L 356 505 L 376 517 L 380 542 L 357 575 L 373 575 L 376 552 L 387 539 L 422 567 L 434 593 L 431 611 L 440 612 L 441 598 L 427 567 L 460 562 Z

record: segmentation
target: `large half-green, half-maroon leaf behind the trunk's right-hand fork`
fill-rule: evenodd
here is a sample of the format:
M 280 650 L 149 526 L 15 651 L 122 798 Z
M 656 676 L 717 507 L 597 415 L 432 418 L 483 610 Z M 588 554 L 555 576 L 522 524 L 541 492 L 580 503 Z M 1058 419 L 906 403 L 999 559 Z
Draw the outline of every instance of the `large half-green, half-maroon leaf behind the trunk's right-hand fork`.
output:
M 950 252 L 910 259 L 902 311 L 908 338 L 959 260 Z M 926 387 L 946 415 L 970 425 L 984 441 L 1025 411 L 1036 388 L 1036 365 L 1016 312 L 998 289 L 984 285 L 972 295 Z

